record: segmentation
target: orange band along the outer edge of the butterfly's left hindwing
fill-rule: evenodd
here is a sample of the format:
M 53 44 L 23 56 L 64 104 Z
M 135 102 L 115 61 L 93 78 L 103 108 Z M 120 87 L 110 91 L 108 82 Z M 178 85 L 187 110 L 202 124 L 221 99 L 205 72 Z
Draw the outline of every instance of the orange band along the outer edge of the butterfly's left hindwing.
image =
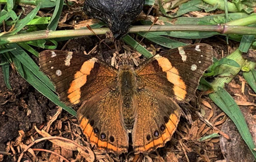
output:
M 82 118 L 80 117 L 79 120 L 81 121 L 80 122 L 80 126 L 81 128 L 83 129 L 83 133 L 84 135 L 86 135 L 86 137 L 90 140 L 91 143 L 94 143 L 97 145 L 97 147 L 99 149 L 101 148 L 106 148 L 106 149 L 109 149 L 109 150 L 112 150 L 112 151 L 115 151 L 117 152 L 118 149 L 121 150 L 120 148 L 106 142 L 106 141 L 101 141 L 98 137 L 97 137 L 97 134 L 95 134 L 93 132 L 93 127 L 88 123 L 88 119 L 86 118 Z

